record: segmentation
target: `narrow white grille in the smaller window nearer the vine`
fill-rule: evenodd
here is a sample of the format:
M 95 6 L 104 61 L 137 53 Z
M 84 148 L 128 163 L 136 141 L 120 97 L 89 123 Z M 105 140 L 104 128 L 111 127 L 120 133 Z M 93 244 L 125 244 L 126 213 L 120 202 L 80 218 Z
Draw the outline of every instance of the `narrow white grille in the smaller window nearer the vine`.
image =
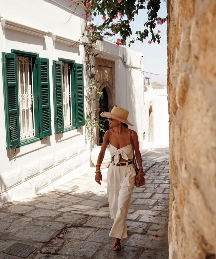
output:
M 72 126 L 71 115 L 71 65 L 62 62 L 62 87 L 63 87 L 63 111 L 64 129 Z

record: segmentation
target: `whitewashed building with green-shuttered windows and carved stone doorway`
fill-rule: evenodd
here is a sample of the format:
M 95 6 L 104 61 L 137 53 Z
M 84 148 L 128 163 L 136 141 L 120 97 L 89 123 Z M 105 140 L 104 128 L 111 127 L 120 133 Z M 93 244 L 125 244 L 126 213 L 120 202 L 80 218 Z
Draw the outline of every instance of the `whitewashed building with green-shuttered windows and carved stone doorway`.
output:
M 86 172 L 84 12 L 70 0 L 2 0 L 0 8 L 0 202 L 30 197 Z M 142 54 L 98 43 L 95 72 L 105 99 L 130 111 L 142 145 Z M 101 136 L 97 136 L 98 142 Z

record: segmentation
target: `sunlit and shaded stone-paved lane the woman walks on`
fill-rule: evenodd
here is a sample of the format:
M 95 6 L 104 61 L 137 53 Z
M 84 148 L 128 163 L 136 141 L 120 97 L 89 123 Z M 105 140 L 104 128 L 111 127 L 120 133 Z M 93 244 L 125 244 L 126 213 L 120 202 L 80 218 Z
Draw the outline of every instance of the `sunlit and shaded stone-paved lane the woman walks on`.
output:
M 112 250 L 114 239 L 108 236 L 113 220 L 107 204 L 107 169 L 102 169 L 99 186 L 90 168 L 49 193 L 0 207 L 0 259 L 20 258 L 3 252 L 15 242 L 37 247 L 26 258 L 167 259 L 168 148 L 155 148 L 142 159 L 146 185 L 132 193 L 128 238 L 121 241 L 121 252 Z

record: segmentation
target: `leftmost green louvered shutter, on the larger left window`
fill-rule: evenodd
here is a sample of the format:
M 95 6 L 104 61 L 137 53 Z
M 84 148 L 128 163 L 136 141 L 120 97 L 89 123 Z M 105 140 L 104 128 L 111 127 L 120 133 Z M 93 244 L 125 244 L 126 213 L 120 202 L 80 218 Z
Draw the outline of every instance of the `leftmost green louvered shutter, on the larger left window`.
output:
M 16 54 L 2 53 L 7 148 L 20 146 Z

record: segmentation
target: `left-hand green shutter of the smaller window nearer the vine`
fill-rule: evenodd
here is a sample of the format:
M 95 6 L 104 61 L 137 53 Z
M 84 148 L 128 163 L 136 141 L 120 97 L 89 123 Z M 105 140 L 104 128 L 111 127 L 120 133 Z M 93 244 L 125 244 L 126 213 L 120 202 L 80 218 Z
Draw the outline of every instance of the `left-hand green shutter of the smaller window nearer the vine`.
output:
M 62 62 L 53 60 L 53 98 L 55 115 L 55 134 L 64 132 L 63 94 L 62 94 Z

